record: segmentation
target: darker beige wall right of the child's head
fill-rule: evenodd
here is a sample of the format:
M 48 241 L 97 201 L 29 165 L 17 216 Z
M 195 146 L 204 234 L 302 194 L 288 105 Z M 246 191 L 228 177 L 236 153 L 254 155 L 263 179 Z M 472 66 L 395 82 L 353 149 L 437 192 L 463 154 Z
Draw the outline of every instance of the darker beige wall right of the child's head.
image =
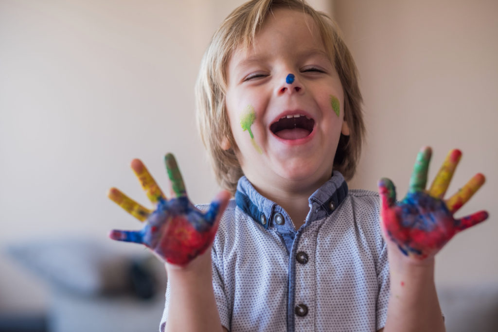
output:
M 448 195 L 475 173 L 487 183 L 458 213 L 490 219 L 457 234 L 436 257 L 437 284 L 498 282 L 498 2 L 339 0 L 335 14 L 361 76 L 367 144 L 352 187 L 376 190 L 381 177 L 408 187 L 423 145 L 429 178 L 447 152 L 463 157 Z

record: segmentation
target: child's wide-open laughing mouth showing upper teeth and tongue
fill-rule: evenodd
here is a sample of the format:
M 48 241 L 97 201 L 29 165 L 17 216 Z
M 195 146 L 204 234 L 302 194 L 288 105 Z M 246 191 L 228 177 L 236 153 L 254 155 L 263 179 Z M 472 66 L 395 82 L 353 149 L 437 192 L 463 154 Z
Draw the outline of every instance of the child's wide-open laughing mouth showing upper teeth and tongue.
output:
M 315 120 L 303 115 L 292 114 L 279 118 L 270 125 L 270 130 L 282 139 L 300 139 L 313 131 Z

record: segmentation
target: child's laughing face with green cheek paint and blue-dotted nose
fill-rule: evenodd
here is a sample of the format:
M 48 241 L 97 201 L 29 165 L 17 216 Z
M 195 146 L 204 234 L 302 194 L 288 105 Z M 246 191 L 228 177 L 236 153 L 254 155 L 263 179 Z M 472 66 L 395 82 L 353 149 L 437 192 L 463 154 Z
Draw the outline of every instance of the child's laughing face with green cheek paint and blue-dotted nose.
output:
M 227 77 L 227 112 L 249 181 L 302 190 L 327 181 L 340 133 L 349 129 L 341 81 L 311 17 L 274 10 L 255 46 L 234 52 Z

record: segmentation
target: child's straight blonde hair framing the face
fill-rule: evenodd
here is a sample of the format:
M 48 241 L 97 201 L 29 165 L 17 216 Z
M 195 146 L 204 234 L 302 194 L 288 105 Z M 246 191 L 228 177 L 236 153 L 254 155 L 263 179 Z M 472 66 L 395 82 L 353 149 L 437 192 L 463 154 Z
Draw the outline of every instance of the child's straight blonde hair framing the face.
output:
M 225 108 L 226 67 L 238 47 L 248 48 L 268 14 L 276 8 L 289 8 L 311 16 L 322 37 L 325 49 L 341 79 L 344 90 L 344 119 L 350 135 L 341 134 L 333 169 L 349 180 L 360 157 L 365 134 L 358 87 L 357 68 L 342 40 L 336 23 L 325 13 L 316 11 L 304 0 L 251 0 L 235 9 L 220 25 L 204 53 L 196 84 L 197 125 L 211 159 L 218 183 L 232 193 L 244 175 L 236 157 L 237 145 Z M 231 148 L 222 148 L 228 140 Z M 331 174 L 332 175 L 332 174 Z

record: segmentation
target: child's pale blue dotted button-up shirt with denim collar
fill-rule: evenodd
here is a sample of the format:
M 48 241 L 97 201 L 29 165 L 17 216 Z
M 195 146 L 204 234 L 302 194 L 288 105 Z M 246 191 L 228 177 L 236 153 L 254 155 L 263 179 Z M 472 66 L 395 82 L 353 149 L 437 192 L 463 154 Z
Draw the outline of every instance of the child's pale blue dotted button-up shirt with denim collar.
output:
M 305 223 L 239 180 L 213 249 L 213 289 L 229 331 L 376 331 L 389 271 L 378 195 L 332 178 L 308 200 Z M 206 209 L 207 206 L 201 206 Z M 169 305 L 169 284 L 160 331 Z

